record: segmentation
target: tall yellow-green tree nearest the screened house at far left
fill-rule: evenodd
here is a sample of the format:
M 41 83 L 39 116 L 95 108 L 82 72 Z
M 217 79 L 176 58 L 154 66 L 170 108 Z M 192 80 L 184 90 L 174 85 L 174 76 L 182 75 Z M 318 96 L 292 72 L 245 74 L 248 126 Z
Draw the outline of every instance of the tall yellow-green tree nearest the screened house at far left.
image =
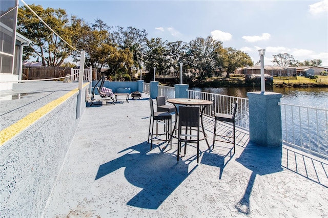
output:
M 70 45 L 76 43 L 81 26 L 74 26 L 73 23 L 79 20 L 80 24 L 84 25 L 81 19 L 69 18 L 64 9 L 43 9 L 42 6 L 34 4 L 29 7 Z M 18 9 L 17 31 L 32 40 L 30 48 L 25 50 L 25 57 L 38 56 L 43 66 L 58 67 L 73 52 L 73 48 L 53 33 L 26 6 Z

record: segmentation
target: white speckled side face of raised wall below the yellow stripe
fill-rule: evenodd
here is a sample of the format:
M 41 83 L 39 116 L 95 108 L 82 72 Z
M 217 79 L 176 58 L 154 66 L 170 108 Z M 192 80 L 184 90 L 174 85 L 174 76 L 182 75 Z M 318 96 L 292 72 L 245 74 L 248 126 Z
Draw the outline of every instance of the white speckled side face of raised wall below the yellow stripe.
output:
M 80 121 L 76 119 L 78 93 L 0 146 L 1 217 L 42 215 Z M 86 103 L 82 105 L 81 114 Z

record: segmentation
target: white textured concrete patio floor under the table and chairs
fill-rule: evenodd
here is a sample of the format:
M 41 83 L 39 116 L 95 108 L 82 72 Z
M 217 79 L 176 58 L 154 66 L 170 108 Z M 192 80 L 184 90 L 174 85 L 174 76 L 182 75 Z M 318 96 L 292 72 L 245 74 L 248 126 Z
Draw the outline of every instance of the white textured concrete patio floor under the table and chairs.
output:
M 86 108 L 43 216 L 328 216 L 328 161 L 239 129 L 232 157 L 231 144 L 201 141 L 199 164 L 192 145 L 177 162 L 176 139 L 150 150 L 148 98 Z

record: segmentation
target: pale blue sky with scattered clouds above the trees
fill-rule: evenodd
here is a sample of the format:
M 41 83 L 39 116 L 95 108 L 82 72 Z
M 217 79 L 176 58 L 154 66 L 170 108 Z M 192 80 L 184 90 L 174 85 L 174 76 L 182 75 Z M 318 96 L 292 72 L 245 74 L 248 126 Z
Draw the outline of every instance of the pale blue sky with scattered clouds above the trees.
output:
M 248 53 L 255 63 L 257 50 L 266 49 L 265 65 L 273 65 L 273 55 L 289 53 L 328 66 L 328 0 L 24 2 L 65 9 L 89 24 L 99 18 L 108 26 L 145 29 L 148 38 L 189 42 L 211 35 L 223 47 Z

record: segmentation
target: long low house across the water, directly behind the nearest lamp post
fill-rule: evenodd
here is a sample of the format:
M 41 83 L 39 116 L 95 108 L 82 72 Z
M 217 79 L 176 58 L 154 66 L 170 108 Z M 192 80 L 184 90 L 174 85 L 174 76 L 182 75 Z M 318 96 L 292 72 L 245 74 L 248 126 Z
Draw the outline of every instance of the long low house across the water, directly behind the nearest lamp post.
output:
M 261 66 L 247 66 L 242 68 L 237 68 L 234 72 L 235 74 L 261 74 Z M 278 66 L 264 66 L 264 74 L 268 74 L 270 76 L 296 76 L 296 68 L 295 67 L 278 67 Z

